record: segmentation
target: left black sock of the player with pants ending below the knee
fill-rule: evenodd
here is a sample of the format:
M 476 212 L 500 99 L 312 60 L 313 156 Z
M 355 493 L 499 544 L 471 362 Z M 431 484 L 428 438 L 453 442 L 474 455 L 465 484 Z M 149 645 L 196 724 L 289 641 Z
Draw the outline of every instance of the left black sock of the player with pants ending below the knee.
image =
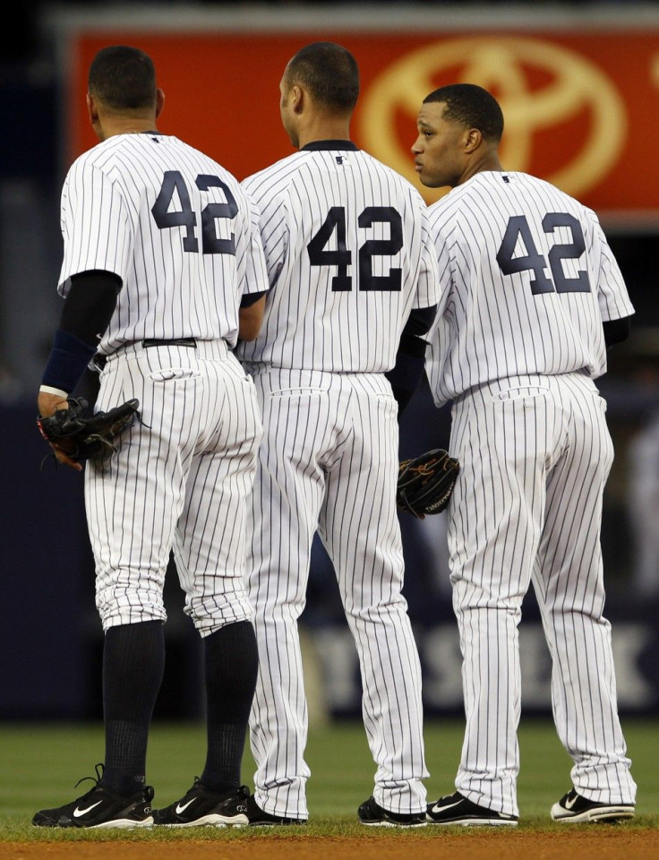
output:
M 106 760 L 102 784 L 122 795 L 146 782 L 147 740 L 165 669 L 162 622 L 110 627 L 103 647 Z

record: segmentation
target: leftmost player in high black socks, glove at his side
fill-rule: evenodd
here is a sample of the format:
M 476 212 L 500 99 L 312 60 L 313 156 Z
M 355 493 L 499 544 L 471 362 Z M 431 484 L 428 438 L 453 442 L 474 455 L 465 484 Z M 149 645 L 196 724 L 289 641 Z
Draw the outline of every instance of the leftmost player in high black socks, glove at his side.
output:
M 258 331 L 267 275 L 258 213 L 227 170 L 158 132 L 163 102 L 149 56 L 98 51 L 87 104 L 100 142 L 62 193 L 65 301 L 39 412 L 66 408 L 98 355 L 98 409 L 134 397 L 141 421 L 84 473 L 105 632 L 104 767 L 85 795 L 37 813 L 41 827 L 246 823 L 239 780 L 258 651 L 244 523 L 262 426 L 231 350 Z M 203 637 L 208 750 L 190 791 L 154 813 L 145 760 L 172 549 Z

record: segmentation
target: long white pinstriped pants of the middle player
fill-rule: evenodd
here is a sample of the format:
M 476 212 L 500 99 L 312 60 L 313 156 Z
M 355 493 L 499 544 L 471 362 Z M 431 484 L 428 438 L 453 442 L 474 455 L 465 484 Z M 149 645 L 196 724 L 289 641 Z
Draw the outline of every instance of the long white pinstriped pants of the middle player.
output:
M 265 429 L 251 557 L 248 549 L 261 661 L 251 718 L 256 801 L 276 815 L 308 815 L 297 621 L 318 529 L 359 655 L 364 725 L 377 765 L 373 795 L 394 812 L 420 812 L 427 772 L 421 670 L 400 593 L 396 401 L 381 374 L 271 370 L 254 374 L 254 383 Z

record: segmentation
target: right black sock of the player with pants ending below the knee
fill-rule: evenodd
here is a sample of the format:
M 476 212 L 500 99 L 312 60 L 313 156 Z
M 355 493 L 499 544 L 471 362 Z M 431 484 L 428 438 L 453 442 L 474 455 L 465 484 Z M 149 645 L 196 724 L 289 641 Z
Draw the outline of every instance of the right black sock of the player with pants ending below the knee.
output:
M 201 782 L 224 792 L 241 784 L 244 742 L 259 668 L 249 621 L 227 624 L 204 641 L 208 752 Z

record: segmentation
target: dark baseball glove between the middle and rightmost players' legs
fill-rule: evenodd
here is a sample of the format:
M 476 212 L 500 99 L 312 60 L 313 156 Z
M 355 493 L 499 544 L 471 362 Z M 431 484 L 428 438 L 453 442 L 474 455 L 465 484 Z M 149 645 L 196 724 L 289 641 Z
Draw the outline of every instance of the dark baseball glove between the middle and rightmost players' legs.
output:
M 458 477 L 458 460 L 441 448 L 419 454 L 398 465 L 396 502 L 401 511 L 424 520 L 429 513 L 439 513 L 449 503 Z

